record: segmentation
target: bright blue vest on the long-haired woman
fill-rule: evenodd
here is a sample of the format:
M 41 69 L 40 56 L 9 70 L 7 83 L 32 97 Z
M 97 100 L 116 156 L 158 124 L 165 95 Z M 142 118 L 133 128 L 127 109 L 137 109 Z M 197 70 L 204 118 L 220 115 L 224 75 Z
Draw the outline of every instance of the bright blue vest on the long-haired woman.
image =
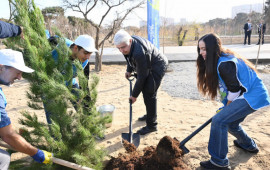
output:
M 238 59 L 233 55 L 227 54 L 221 55 L 217 66 L 222 103 L 224 105 L 227 104 L 228 90 L 224 81 L 220 77 L 218 68 L 220 63 L 228 61 L 232 61 L 236 65 L 236 76 L 240 85 L 246 89 L 246 92 L 243 93 L 243 96 L 250 107 L 254 110 L 257 110 L 259 108 L 268 106 L 270 104 L 268 91 L 256 72 L 252 70 L 243 60 Z

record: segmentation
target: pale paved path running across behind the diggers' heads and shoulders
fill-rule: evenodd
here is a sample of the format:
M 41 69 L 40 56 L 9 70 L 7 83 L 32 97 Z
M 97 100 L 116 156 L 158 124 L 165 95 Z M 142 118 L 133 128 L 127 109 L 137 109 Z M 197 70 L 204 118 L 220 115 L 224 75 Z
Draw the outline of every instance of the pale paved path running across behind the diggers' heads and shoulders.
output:
M 256 61 L 259 45 L 224 45 L 249 60 Z M 160 47 L 163 52 L 163 47 Z M 197 46 L 175 46 L 165 47 L 164 53 L 168 57 L 169 62 L 187 62 L 195 61 L 197 58 Z M 95 56 L 91 56 L 90 62 L 94 63 Z M 125 64 L 123 55 L 117 48 L 105 48 L 102 57 L 103 64 Z M 270 62 L 270 44 L 261 46 L 259 54 L 259 62 Z

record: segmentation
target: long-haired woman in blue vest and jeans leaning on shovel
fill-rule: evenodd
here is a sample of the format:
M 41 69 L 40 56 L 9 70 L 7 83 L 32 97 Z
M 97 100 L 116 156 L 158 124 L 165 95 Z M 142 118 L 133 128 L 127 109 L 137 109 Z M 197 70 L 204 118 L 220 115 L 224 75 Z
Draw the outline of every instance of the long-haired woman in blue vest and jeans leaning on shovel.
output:
M 201 162 L 205 169 L 230 169 L 228 132 L 236 137 L 234 145 L 258 153 L 255 141 L 240 123 L 247 115 L 268 106 L 270 98 L 255 67 L 235 52 L 225 49 L 216 34 L 206 34 L 198 41 L 197 85 L 211 99 L 219 91 L 224 107 L 213 118 L 208 143 L 209 161 Z

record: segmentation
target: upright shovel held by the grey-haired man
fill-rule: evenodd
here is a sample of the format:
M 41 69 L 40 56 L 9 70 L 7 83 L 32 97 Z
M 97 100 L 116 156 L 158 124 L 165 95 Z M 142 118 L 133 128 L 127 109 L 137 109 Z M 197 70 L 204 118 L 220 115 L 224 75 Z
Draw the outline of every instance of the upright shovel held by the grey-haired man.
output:
M 130 84 L 130 96 L 132 95 L 132 79 L 128 79 Z M 129 143 L 132 143 L 135 145 L 136 148 L 140 145 L 140 134 L 138 133 L 132 133 L 132 101 L 129 101 L 130 103 L 130 109 L 129 109 L 129 133 L 122 133 L 122 142 L 124 140 L 128 141 Z

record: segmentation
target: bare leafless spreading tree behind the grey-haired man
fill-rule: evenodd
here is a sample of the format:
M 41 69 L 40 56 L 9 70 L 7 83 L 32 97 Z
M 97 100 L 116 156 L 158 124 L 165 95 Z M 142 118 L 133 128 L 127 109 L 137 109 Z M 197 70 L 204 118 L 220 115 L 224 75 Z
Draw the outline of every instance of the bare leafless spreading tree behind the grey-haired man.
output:
M 122 22 L 127 18 L 127 16 L 135 9 L 141 8 L 144 4 L 144 0 L 138 0 L 133 2 L 131 0 L 63 0 L 65 6 L 67 8 L 72 9 L 73 11 L 79 12 L 83 15 L 83 17 L 96 29 L 96 37 L 95 37 L 95 45 L 96 48 L 99 50 L 101 48 L 100 53 L 96 53 L 95 58 L 95 70 L 100 71 L 102 69 L 102 55 L 103 55 L 103 47 L 105 41 L 107 41 L 110 37 L 112 37 L 117 29 L 119 29 L 122 25 Z M 127 5 L 128 2 L 132 2 L 132 5 Z M 127 6 L 125 6 L 125 4 Z M 98 23 L 95 23 L 93 20 L 93 15 L 90 15 L 94 9 L 106 8 L 105 12 L 101 14 L 101 19 Z M 126 8 L 127 7 L 127 8 Z M 125 9 L 124 9 L 125 8 Z M 111 11 L 117 10 L 115 15 L 112 14 Z M 122 11 L 121 11 L 122 10 Z M 121 11 L 121 12 L 119 12 Z M 104 24 L 104 20 L 108 16 L 114 16 L 112 18 L 112 22 L 108 25 L 106 30 L 106 34 L 101 37 L 101 29 L 102 25 Z

